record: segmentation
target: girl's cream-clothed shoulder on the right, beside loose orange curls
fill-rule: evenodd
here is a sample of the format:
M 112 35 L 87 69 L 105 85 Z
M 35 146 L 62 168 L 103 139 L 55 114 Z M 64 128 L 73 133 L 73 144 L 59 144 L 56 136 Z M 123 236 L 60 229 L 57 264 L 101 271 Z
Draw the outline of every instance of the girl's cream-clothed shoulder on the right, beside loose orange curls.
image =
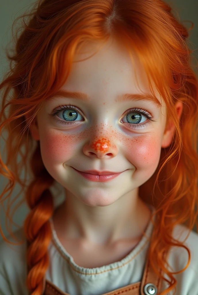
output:
M 175 295 L 198 295 L 198 234 L 182 225 L 176 225 L 173 230 L 173 237 L 183 243 L 191 255 L 190 264 L 182 273 L 174 274 L 177 280 Z M 181 271 L 187 266 L 188 252 L 182 247 L 172 247 L 168 257 L 171 272 Z

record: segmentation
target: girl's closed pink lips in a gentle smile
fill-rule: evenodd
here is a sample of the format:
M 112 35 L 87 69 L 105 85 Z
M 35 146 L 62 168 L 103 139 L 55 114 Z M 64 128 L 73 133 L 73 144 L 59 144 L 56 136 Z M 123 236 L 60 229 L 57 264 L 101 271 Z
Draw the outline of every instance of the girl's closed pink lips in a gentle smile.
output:
M 73 169 L 75 171 L 77 171 L 80 175 L 82 175 L 84 178 L 86 178 L 88 180 L 91 180 L 91 181 L 99 181 L 99 182 L 110 181 L 111 179 L 116 178 L 118 175 L 120 175 L 123 172 L 122 171 L 120 173 L 107 174 L 110 171 L 99 172 L 99 171 L 96 171 L 96 170 L 87 170 L 88 172 L 90 172 L 90 171 L 92 172 L 92 173 L 87 173 L 87 172 L 79 171 L 79 170 L 77 170 L 75 168 L 73 168 Z M 105 174 L 103 174 L 103 175 L 100 174 L 99 175 L 99 174 L 96 174 L 96 173 L 105 173 Z M 110 172 L 110 173 L 112 173 L 112 172 Z

